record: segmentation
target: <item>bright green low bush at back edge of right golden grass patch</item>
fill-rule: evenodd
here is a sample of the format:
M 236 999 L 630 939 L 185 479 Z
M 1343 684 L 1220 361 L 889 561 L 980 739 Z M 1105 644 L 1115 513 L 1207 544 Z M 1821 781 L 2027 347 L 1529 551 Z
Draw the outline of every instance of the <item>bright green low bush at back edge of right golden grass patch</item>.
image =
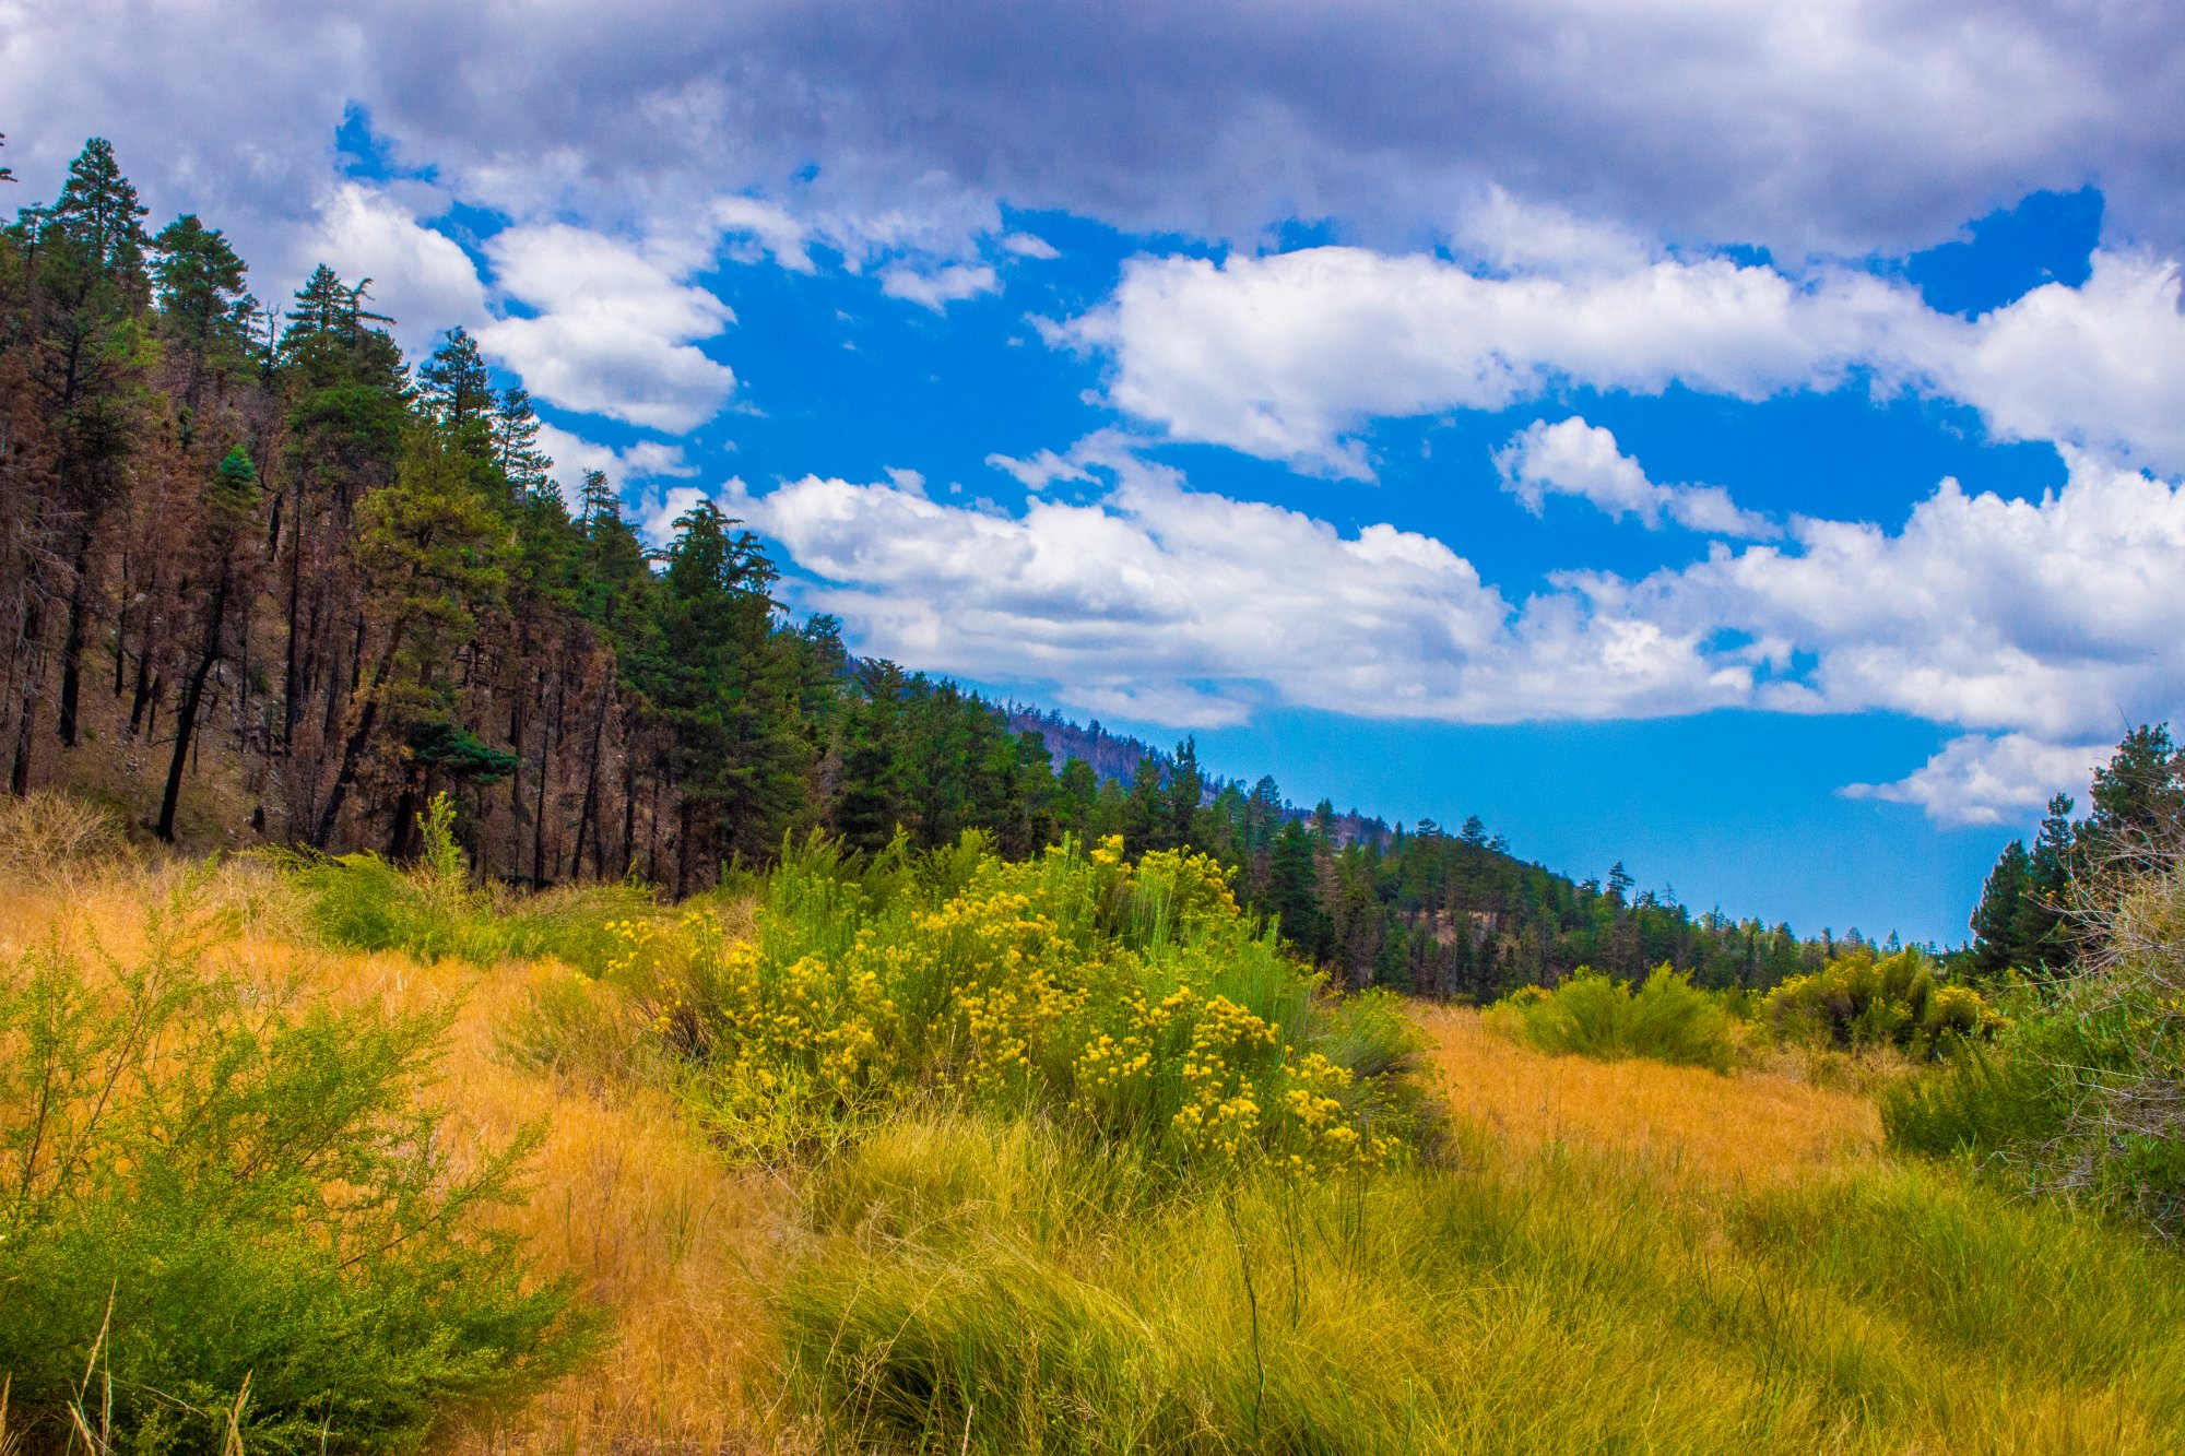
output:
M 1525 986 L 1488 1010 L 1490 1025 L 1558 1056 L 1643 1056 L 1728 1071 L 1737 1060 L 1731 1014 L 1689 975 L 1658 966 L 1637 990 L 1580 966 L 1554 990 Z

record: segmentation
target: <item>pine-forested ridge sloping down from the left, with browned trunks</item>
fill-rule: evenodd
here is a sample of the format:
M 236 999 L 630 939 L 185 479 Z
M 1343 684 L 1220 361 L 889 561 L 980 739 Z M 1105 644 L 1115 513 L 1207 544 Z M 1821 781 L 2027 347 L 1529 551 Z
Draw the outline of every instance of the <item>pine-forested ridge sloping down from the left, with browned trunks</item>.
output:
M 107 796 L 162 839 L 409 855 L 448 794 L 518 883 L 673 894 L 813 829 L 1003 855 L 1119 833 L 1237 868 L 1348 984 L 1492 997 L 1578 964 L 1770 986 L 1829 940 L 1523 864 L 1460 831 L 1210 783 L 1193 745 L 1007 711 L 793 619 L 699 503 L 653 549 L 553 474 L 520 387 L 450 330 L 411 365 L 369 280 L 249 293 L 218 227 L 151 232 L 114 149 L 0 234 L 9 789 Z M 1079 754 L 1064 752 L 1079 748 Z

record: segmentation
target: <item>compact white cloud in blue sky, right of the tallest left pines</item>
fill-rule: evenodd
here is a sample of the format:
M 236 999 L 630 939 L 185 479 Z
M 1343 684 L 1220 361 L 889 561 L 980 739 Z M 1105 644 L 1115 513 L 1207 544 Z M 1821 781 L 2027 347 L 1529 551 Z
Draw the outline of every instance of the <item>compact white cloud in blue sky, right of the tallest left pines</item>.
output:
M 479 330 L 479 343 L 544 400 L 658 431 L 710 420 L 736 374 L 695 341 L 736 315 L 662 260 L 566 223 L 511 227 L 485 245 L 500 291 L 538 313 Z

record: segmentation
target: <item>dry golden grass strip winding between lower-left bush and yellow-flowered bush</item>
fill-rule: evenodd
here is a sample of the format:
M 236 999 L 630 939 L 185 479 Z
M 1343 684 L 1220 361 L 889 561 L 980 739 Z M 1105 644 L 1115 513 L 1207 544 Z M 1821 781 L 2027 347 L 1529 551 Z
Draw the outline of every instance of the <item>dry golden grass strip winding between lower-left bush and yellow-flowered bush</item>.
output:
M 66 885 L 0 883 L 0 955 L 46 934 L 127 953 L 146 909 L 184 870 L 107 868 Z M 216 953 L 267 982 L 302 977 L 308 995 L 376 999 L 389 1008 L 454 1008 L 435 1097 L 450 1130 L 481 1150 L 518 1128 L 546 1128 L 531 1202 L 511 1220 L 542 1272 L 572 1270 L 616 1312 L 614 1345 L 518 1419 L 452 1430 L 441 1449 L 529 1452 L 758 1452 L 795 1447 L 780 1414 L 782 1382 L 760 1292 L 782 1264 L 784 1189 L 730 1170 L 671 1093 L 616 1087 L 607 1097 L 548 1073 L 511 1067 L 496 1030 L 533 977 L 566 968 L 494 971 L 406 955 L 299 949 L 280 881 L 258 866 L 225 866 L 208 888 L 240 912 Z

